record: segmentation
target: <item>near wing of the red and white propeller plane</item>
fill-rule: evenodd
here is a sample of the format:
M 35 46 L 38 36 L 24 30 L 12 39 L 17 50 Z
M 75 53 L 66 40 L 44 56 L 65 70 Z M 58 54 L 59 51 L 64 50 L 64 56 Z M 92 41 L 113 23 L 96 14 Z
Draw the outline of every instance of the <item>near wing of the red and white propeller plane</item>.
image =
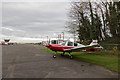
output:
M 99 45 L 94 46 L 84 46 L 84 47 L 75 47 L 71 49 L 64 49 L 65 52 L 71 52 L 71 51 L 79 51 L 79 50 L 85 50 L 85 49 L 93 49 L 95 47 L 99 47 Z

